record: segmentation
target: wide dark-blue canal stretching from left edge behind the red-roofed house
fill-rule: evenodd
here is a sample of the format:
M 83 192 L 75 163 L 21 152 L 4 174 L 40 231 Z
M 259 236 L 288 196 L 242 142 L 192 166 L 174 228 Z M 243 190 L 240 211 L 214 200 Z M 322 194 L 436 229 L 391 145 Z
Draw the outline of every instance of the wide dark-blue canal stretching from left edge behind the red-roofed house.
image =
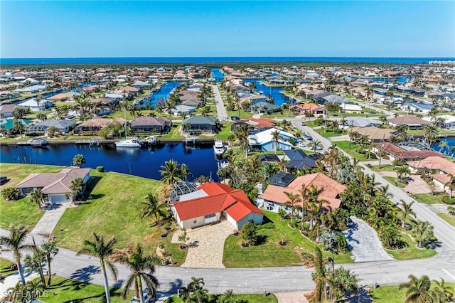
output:
M 149 179 L 161 179 L 159 170 L 165 161 L 174 159 L 179 164 L 186 163 L 193 174 L 210 176 L 216 181 L 218 161 L 213 154 L 211 144 L 201 145 L 196 149 L 185 149 L 183 144 L 161 144 L 156 148 L 117 148 L 114 144 L 101 147 L 76 145 L 48 145 L 44 148 L 30 146 L 0 146 L 0 162 L 32 163 L 48 165 L 72 165 L 73 157 L 82 154 L 86 163 L 82 167 L 105 166 L 106 171 L 117 171 Z

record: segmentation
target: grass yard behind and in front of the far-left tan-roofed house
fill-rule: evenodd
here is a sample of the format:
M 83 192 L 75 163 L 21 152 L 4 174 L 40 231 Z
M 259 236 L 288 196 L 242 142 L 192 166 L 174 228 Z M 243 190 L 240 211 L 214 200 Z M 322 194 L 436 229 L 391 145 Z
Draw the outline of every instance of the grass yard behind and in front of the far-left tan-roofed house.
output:
M 9 181 L 0 186 L 0 190 L 16 186 L 19 181 L 33 173 L 55 173 L 63 169 L 61 166 L 43 166 L 32 164 L 0 164 L 0 174 L 6 176 Z M 0 228 L 7 229 L 9 225 L 20 224 L 32 230 L 44 211 L 31 203 L 28 197 L 17 201 L 5 201 L 0 198 Z

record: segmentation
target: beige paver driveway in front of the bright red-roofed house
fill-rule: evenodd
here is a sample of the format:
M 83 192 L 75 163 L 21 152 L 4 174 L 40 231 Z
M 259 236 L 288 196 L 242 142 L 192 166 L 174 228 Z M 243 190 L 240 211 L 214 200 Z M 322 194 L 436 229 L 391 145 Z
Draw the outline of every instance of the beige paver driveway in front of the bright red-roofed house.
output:
M 228 220 L 222 220 L 214 225 L 205 225 L 193 230 L 186 230 L 188 235 L 188 254 L 181 267 L 191 268 L 225 268 L 223 265 L 223 250 L 228 235 L 234 233 L 235 228 Z M 172 243 L 178 242 L 177 231 L 172 236 Z

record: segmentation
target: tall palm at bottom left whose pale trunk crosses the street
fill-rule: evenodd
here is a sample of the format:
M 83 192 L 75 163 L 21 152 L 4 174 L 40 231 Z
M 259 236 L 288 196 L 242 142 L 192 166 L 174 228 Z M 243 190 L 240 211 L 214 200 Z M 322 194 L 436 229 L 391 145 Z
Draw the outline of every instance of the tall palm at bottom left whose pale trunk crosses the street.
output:
M 111 297 L 109 294 L 109 282 L 107 281 L 106 275 L 106 265 L 109 267 L 114 280 L 117 281 L 117 268 L 115 267 L 114 263 L 109 260 L 109 256 L 112 255 L 112 251 L 114 250 L 113 247 L 116 240 L 115 238 L 112 238 L 107 243 L 105 243 L 105 238 L 102 235 L 98 236 L 96 233 L 93 233 L 93 238 L 95 240 L 84 240 L 82 243 L 85 245 L 85 248 L 79 250 L 76 255 L 87 254 L 100 258 L 102 275 L 105 282 L 106 302 L 110 303 Z

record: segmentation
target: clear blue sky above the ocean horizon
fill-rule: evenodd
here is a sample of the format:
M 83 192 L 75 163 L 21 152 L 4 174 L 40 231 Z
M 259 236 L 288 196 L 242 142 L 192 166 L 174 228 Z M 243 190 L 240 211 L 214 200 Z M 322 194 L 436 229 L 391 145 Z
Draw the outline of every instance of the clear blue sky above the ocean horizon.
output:
M 455 1 L 0 1 L 1 58 L 455 57 Z

